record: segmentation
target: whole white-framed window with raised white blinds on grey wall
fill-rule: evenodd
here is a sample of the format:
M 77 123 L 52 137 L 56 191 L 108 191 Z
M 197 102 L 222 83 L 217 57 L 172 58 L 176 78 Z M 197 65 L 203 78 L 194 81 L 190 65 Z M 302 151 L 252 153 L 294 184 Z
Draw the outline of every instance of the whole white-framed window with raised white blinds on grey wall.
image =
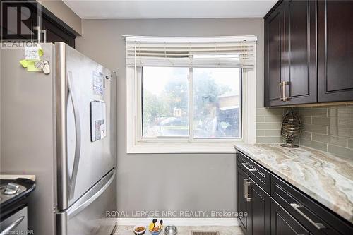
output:
M 234 142 L 251 142 L 253 42 L 138 39 L 126 39 L 127 152 L 234 152 Z

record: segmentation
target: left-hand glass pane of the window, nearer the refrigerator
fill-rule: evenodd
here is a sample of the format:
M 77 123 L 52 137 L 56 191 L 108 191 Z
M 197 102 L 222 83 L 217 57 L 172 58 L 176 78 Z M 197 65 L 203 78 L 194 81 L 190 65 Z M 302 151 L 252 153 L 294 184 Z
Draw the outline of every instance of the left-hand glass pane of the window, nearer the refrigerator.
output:
M 188 68 L 143 67 L 143 138 L 189 135 L 188 77 Z

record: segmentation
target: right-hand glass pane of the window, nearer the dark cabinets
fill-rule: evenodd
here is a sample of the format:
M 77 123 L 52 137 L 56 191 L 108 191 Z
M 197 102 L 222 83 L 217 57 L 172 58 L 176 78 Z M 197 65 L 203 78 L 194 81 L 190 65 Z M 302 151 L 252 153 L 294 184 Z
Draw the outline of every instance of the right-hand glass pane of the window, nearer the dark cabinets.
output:
M 241 138 L 241 69 L 193 69 L 193 137 Z

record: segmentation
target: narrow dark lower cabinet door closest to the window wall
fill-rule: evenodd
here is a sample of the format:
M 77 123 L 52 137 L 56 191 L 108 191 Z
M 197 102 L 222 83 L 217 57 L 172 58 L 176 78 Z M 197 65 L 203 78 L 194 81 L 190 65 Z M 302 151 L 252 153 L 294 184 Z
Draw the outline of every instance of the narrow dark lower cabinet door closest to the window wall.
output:
M 245 183 L 249 176 L 238 166 L 237 167 L 237 213 L 238 215 L 248 214 L 248 203 L 245 198 Z M 251 224 L 249 216 L 239 216 L 239 225 L 244 234 L 251 234 Z

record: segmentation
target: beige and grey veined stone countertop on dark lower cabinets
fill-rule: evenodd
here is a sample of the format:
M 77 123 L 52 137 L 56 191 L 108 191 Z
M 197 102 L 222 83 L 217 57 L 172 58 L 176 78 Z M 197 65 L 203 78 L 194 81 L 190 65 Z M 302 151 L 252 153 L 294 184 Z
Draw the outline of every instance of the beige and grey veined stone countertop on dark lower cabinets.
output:
M 234 147 L 353 223 L 353 158 L 278 144 Z

